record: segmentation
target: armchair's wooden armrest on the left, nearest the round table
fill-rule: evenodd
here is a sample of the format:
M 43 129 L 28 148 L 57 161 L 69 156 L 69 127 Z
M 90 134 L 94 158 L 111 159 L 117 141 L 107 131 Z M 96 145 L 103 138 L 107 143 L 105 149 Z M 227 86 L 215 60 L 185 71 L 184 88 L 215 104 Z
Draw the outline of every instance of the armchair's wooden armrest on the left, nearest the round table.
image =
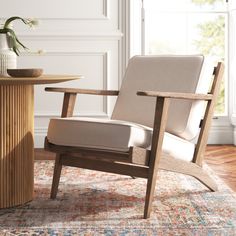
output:
M 73 93 L 73 94 L 91 94 L 91 95 L 105 95 L 105 96 L 117 96 L 118 90 L 95 90 L 95 89 L 75 89 L 75 88 L 52 88 L 47 87 L 45 91 L 48 92 L 60 92 L 60 93 Z

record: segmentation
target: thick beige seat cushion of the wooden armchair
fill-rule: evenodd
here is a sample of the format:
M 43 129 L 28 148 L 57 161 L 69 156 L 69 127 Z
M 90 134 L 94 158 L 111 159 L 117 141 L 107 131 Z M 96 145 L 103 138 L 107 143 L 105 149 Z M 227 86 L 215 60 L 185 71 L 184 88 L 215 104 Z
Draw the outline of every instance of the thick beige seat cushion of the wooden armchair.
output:
M 95 118 L 51 119 L 47 138 L 64 146 L 128 151 L 131 146 L 150 148 L 152 129 L 132 122 Z M 165 133 L 163 151 L 175 158 L 191 161 L 194 144 Z

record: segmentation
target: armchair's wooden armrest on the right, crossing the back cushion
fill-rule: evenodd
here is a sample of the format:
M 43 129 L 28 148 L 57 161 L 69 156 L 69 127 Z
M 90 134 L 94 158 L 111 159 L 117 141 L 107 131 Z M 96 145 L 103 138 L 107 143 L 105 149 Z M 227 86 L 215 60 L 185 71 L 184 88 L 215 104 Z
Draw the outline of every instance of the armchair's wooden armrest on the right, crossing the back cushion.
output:
M 212 100 L 212 94 L 197 94 L 197 93 L 171 93 L 171 92 L 156 92 L 156 91 L 138 91 L 139 96 L 163 97 L 174 99 L 188 100 Z

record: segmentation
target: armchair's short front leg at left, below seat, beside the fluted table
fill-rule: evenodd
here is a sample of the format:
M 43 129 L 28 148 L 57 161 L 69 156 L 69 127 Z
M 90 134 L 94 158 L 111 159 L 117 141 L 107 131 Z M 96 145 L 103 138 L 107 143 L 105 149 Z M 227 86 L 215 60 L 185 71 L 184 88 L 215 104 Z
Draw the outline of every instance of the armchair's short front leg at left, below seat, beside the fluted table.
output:
M 58 185 L 61 177 L 61 154 L 56 155 L 55 166 L 54 166 L 54 173 L 53 173 L 53 180 L 52 180 L 52 188 L 51 188 L 51 199 L 55 199 L 57 196 Z

